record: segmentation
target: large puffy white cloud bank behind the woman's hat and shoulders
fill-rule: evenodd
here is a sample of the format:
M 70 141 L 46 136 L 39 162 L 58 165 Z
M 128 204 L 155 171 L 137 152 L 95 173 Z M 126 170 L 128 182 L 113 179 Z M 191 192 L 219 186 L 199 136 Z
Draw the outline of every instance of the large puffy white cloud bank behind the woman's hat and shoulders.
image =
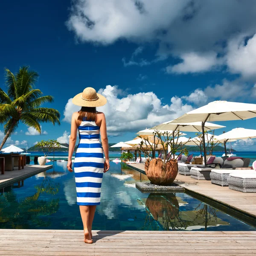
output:
M 100 89 L 108 103 L 98 108 L 105 113 L 109 135 L 116 135 L 125 131 L 139 131 L 145 127 L 152 127 L 166 120 L 174 119 L 192 110 L 191 105 L 183 104 L 178 97 L 172 97 L 170 104 L 164 104 L 153 92 L 128 94 L 120 97 L 121 90 L 117 86 L 107 85 Z M 64 111 L 64 120 L 71 121 L 75 105 L 68 100 Z

